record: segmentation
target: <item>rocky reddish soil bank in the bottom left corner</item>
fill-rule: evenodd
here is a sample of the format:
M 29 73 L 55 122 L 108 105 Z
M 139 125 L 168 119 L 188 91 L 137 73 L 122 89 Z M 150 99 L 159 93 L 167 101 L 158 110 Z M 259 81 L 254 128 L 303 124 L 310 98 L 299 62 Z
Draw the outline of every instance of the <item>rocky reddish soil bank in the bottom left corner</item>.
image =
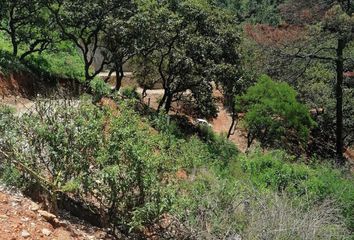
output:
M 0 189 L 0 239 L 112 239 L 74 218 L 56 217 L 19 193 Z

